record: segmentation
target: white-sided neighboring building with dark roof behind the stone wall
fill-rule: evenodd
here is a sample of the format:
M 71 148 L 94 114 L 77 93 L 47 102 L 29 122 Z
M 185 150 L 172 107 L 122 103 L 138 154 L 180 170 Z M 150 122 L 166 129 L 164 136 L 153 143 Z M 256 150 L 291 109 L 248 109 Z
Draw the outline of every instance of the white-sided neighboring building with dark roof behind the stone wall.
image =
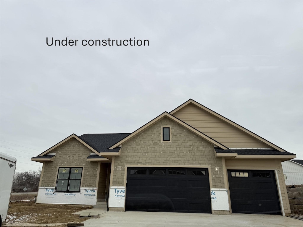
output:
M 286 185 L 303 184 L 303 160 L 288 160 L 282 162 Z

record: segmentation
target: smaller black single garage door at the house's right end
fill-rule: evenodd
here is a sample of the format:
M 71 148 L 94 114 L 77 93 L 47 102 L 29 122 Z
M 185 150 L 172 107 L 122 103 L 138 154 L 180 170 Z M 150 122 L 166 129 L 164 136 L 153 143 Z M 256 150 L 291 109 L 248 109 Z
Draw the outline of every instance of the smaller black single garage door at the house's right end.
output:
M 273 170 L 228 170 L 233 213 L 281 214 Z

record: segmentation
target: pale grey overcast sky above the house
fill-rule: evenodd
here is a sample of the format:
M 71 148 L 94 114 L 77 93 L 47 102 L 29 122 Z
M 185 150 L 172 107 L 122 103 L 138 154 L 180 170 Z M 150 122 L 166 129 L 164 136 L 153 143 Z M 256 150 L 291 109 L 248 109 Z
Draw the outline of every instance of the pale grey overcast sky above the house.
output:
M 192 98 L 302 159 L 302 1 L 1 1 L 1 152 L 130 133 Z M 47 46 L 55 39 L 149 46 Z

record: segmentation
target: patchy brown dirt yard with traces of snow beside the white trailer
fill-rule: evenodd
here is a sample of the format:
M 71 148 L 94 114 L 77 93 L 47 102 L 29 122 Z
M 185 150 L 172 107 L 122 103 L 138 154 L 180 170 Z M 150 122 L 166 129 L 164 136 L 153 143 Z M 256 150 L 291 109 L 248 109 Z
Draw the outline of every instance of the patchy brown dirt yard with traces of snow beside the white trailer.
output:
M 35 195 L 34 195 L 35 196 Z M 15 200 L 11 197 L 11 200 Z M 6 223 L 63 223 L 63 222 L 84 222 L 85 218 L 79 219 L 79 215 L 72 214 L 77 211 L 88 209 L 88 206 L 68 205 L 35 205 L 31 198 L 29 201 L 10 202 Z

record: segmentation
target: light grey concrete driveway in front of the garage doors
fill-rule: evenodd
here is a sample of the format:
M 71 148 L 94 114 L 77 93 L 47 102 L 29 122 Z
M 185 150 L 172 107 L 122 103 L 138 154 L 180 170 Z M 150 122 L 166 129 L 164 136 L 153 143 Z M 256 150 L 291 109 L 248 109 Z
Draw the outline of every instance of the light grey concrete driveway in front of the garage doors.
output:
M 281 215 L 232 214 L 211 215 L 168 212 L 105 212 L 98 219 L 88 219 L 86 227 L 302 227 L 303 221 Z

